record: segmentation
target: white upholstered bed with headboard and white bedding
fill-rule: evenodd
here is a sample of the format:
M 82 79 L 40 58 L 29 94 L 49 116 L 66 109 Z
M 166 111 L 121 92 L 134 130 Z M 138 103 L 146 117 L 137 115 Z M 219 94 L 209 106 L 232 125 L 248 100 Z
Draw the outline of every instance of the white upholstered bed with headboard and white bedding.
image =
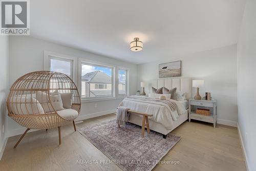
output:
M 185 92 L 186 99 L 191 97 L 191 79 L 190 78 L 166 78 L 158 79 L 150 82 L 149 87 L 161 88 L 166 87 L 172 89 L 177 87 L 177 91 Z M 134 97 L 134 98 L 133 98 Z M 150 101 L 144 100 L 148 97 L 141 96 L 138 99 L 138 96 L 131 96 L 124 99 L 120 106 L 125 106 L 134 111 L 144 112 L 147 114 L 153 114 L 152 117 L 149 117 L 150 129 L 156 132 L 163 134 L 163 137 L 166 138 L 166 135 L 181 125 L 184 121 L 188 119 L 188 101 L 174 101 L 178 105 L 178 108 L 181 112 L 178 112 L 179 115 L 168 113 L 167 107 L 164 105 L 158 105 L 158 102 L 151 103 Z M 134 99 L 134 100 L 133 100 Z M 137 115 L 131 112 L 130 123 L 142 126 L 141 115 Z

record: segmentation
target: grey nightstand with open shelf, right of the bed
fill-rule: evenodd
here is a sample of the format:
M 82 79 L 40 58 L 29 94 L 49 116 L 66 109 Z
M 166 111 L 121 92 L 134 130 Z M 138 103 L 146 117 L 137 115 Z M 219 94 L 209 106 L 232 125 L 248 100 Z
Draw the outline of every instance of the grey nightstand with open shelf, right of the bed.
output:
M 205 116 L 205 115 L 196 114 L 197 108 L 210 109 L 210 115 Z M 215 128 L 217 123 L 217 101 L 189 99 L 188 113 L 189 113 L 188 114 L 189 121 L 190 119 L 205 121 L 207 123 L 214 124 L 214 128 Z

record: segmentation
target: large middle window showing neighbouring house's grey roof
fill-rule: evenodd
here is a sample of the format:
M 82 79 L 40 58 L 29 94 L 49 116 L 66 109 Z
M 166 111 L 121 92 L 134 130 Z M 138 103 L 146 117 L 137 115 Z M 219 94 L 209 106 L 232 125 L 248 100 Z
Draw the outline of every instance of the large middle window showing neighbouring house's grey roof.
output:
M 81 96 L 114 97 L 114 67 L 81 62 Z

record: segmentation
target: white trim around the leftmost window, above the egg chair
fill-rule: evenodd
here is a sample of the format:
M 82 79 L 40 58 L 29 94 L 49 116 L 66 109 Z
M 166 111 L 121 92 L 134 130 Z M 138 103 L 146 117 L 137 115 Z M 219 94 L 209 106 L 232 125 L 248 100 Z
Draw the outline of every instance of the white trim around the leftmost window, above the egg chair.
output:
M 73 82 L 77 85 L 77 57 L 69 56 L 69 55 L 63 55 L 63 54 L 57 54 L 54 52 L 44 51 L 44 70 L 50 70 L 51 67 L 51 59 L 59 59 L 63 61 L 71 61 L 71 79 Z

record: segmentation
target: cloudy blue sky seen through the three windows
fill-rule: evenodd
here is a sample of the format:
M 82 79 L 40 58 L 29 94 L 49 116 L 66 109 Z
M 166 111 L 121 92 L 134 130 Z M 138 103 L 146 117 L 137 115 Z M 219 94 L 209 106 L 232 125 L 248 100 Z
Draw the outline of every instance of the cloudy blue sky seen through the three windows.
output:
M 70 62 L 68 61 L 60 61 L 51 59 L 51 71 L 62 72 L 70 76 Z M 112 69 L 108 67 L 101 66 L 91 66 L 82 64 L 82 76 L 93 71 L 100 70 L 104 72 L 106 75 L 112 77 Z M 120 69 L 118 73 L 119 81 L 125 83 L 125 70 Z

